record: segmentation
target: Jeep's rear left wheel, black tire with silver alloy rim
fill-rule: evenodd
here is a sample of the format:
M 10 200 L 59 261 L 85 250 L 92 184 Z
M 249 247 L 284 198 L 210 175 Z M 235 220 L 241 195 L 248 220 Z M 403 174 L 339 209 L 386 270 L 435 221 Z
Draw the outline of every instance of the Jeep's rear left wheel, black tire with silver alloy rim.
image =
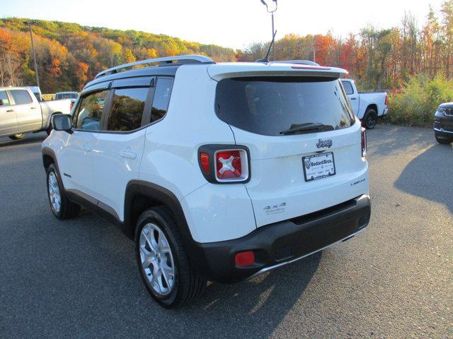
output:
M 175 220 L 167 208 L 145 210 L 135 232 L 137 265 L 151 297 L 167 309 L 202 295 L 206 279 L 190 267 Z

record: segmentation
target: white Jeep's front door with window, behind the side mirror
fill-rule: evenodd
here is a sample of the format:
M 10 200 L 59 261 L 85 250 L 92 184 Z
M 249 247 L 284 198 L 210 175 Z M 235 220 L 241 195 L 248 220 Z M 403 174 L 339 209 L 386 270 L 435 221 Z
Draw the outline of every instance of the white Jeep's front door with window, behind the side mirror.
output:
M 59 150 L 59 170 L 64 188 L 90 200 L 95 196 L 93 149 L 101 130 L 101 121 L 109 90 L 96 90 L 79 100 L 73 129 Z M 88 195 L 88 196 L 87 196 Z

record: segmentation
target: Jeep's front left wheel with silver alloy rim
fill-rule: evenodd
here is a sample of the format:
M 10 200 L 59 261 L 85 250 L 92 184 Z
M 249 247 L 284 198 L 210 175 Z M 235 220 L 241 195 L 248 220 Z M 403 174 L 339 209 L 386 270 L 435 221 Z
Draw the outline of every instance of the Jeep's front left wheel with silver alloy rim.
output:
M 70 201 L 64 194 L 62 181 L 54 164 L 47 167 L 46 174 L 47 198 L 49 198 L 52 213 L 60 220 L 76 217 L 80 212 L 80 205 Z

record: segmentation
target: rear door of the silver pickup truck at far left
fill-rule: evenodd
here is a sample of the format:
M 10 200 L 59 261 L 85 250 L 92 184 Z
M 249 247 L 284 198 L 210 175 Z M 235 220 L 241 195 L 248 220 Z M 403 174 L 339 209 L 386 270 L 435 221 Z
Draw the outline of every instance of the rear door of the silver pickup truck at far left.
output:
M 38 131 L 42 126 L 41 107 L 28 90 L 8 90 L 16 112 L 18 132 Z

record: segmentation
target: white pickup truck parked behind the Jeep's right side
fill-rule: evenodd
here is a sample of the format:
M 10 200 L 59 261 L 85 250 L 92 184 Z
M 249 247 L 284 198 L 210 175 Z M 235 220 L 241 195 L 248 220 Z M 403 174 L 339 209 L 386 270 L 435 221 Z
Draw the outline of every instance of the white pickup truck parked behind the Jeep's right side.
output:
M 362 126 L 366 129 L 374 129 L 377 118 L 384 117 L 389 112 L 387 93 L 358 93 L 353 80 L 342 79 L 341 82 L 354 114 L 362 121 Z

